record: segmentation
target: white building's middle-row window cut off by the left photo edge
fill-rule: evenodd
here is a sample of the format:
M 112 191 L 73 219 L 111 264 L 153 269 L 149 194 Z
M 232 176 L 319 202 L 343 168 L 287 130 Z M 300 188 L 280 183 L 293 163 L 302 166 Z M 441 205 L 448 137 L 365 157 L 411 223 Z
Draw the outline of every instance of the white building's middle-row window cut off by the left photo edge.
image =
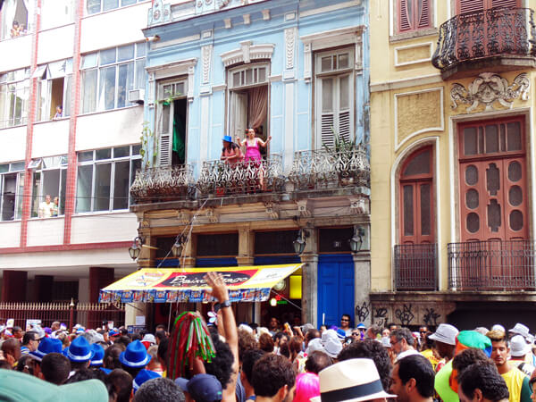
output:
M 0 129 L 26 124 L 29 69 L 0 74 Z

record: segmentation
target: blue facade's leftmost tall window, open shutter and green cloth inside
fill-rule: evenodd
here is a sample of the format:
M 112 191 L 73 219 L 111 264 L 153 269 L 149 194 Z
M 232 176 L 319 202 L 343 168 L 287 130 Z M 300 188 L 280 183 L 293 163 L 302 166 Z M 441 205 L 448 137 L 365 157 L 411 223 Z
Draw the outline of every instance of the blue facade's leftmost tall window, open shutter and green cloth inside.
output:
M 184 164 L 186 161 L 187 90 L 187 80 L 163 81 L 158 85 L 160 166 Z

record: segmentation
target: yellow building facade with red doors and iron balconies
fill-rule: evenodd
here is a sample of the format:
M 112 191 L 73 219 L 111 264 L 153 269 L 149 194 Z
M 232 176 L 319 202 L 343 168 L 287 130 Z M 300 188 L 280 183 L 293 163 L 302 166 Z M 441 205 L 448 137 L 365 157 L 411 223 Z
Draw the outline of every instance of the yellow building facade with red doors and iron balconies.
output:
M 372 321 L 534 326 L 536 1 L 370 6 Z

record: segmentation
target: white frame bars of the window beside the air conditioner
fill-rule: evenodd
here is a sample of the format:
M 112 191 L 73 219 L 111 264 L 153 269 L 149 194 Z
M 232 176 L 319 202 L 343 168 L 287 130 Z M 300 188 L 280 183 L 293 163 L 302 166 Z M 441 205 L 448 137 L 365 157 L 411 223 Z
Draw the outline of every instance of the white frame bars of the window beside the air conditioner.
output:
M 121 62 L 118 62 L 118 55 L 121 48 L 127 47 L 127 46 L 134 46 L 134 57 L 129 58 L 126 60 L 121 60 Z M 103 63 L 102 61 L 102 54 L 105 52 L 109 52 L 111 50 L 115 50 L 115 62 L 113 63 Z M 132 104 L 129 103 L 129 91 L 131 89 L 143 89 L 145 88 L 145 82 L 147 79 L 147 72 L 145 70 L 145 60 L 146 60 L 146 54 L 147 54 L 147 43 L 146 42 L 137 42 L 137 43 L 130 43 L 128 45 L 124 46 L 117 46 L 117 47 L 111 47 L 108 49 L 102 49 L 98 52 L 90 53 L 90 54 L 84 54 L 80 58 L 80 71 L 82 75 L 82 85 L 81 85 L 81 100 L 82 100 L 82 113 L 94 113 L 94 112 L 103 112 L 107 110 L 115 110 L 115 109 L 121 109 L 123 107 L 129 107 Z M 141 65 L 141 62 L 144 62 L 143 65 Z M 119 101 L 119 69 L 123 65 L 127 65 L 132 63 L 133 65 L 133 73 L 132 73 L 132 88 L 125 88 L 125 104 L 123 106 L 118 105 Z M 139 66 L 138 66 L 139 65 Z M 103 88 L 100 88 L 100 81 L 101 81 L 101 71 L 105 69 L 109 69 L 111 67 L 115 67 L 115 82 L 114 82 L 114 88 L 113 88 L 113 107 L 106 108 L 104 105 L 104 100 L 100 98 L 100 92 L 103 90 Z M 84 92 L 87 90 L 86 87 L 86 80 L 88 73 L 96 71 L 96 98 L 95 98 L 95 105 L 85 105 L 84 102 Z M 141 71 L 141 72 L 140 72 Z M 138 74 L 143 74 L 143 79 L 140 79 L 139 82 L 137 80 Z M 90 107 L 91 106 L 91 107 Z

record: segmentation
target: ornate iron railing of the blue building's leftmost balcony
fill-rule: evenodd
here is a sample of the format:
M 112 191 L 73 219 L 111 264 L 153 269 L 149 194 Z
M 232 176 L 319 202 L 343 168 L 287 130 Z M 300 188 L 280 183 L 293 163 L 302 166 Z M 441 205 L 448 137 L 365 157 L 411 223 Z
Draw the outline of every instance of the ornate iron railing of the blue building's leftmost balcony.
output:
M 136 172 L 130 196 L 135 204 L 172 201 L 190 196 L 194 189 L 191 165 L 158 166 Z

